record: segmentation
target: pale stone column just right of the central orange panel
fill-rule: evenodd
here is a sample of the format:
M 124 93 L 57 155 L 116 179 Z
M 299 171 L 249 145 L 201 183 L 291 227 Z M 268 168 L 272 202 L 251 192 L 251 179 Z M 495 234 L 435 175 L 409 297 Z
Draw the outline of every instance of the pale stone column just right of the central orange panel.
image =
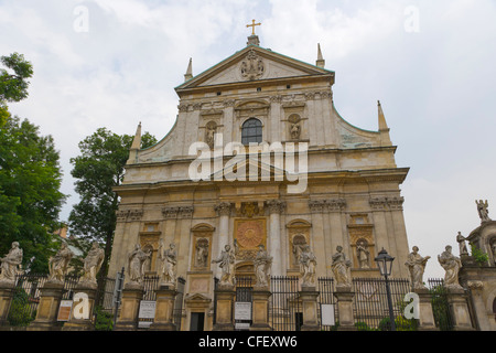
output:
M 282 276 L 282 255 L 281 255 L 281 212 L 285 203 L 279 200 L 267 202 L 269 207 L 269 253 L 272 256 L 272 276 Z

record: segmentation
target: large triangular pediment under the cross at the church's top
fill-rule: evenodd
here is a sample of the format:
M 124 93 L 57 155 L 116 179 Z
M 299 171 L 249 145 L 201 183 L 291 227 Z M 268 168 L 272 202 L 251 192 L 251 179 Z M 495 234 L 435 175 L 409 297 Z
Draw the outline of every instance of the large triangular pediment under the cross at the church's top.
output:
M 175 89 L 181 92 L 200 87 L 315 75 L 334 75 L 334 73 L 257 45 L 248 45 Z

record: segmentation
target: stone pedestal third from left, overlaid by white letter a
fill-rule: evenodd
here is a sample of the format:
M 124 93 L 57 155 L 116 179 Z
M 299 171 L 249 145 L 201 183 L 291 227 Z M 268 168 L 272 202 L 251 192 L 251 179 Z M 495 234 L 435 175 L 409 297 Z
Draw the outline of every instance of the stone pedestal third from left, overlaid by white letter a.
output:
M 76 288 L 74 289 L 74 303 L 73 308 L 71 309 L 71 317 L 62 328 L 62 331 L 95 330 L 95 327 L 91 323 L 91 315 L 95 307 L 96 292 L 97 284 L 79 282 L 76 286 Z M 83 299 L 77 298 L 78 293 L 84 295 Z

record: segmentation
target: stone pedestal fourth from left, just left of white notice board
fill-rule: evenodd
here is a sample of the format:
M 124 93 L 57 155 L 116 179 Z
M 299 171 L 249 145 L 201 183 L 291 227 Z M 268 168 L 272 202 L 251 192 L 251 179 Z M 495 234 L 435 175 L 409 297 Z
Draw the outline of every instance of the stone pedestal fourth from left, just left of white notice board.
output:
M 138 313 L 143 298 L 143 286 L 127 284 L 122 289 L 120 315 L 115 331 L 134 331 L 138 329 Z

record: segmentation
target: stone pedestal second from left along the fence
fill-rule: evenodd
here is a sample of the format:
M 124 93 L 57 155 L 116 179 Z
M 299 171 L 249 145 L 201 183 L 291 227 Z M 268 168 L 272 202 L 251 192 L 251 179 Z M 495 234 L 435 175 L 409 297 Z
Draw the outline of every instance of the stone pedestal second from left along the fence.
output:
M 64 292 L 64 282 L 60 281 L 47 281 L 40 288 L 36 319 L 28 327 L 28 331 L 55 331 L 62 328 L 57 324 L 57 314 Z

